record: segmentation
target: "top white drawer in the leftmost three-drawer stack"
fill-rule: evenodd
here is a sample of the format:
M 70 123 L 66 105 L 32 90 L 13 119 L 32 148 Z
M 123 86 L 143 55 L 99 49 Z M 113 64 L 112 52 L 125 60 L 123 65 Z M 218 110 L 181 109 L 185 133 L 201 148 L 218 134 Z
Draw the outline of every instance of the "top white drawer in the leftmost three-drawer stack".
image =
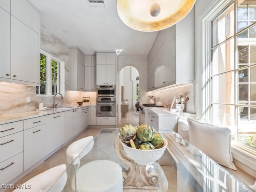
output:
M 0 125 L 0 137 L 23 131 L 23 121 Z

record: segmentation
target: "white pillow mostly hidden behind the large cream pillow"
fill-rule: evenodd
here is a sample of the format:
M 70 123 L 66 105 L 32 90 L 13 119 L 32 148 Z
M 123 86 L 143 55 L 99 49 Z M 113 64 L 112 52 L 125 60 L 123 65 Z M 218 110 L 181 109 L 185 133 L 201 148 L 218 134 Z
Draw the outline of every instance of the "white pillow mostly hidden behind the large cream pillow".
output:
M 206 120 L 204 117 L 198 118 L 196 121 L 206 123 Z M 185 118 L 182 116 L 178 120 L 178 134 L 185 140 L 189 140 L 189 134 L 188 134 L 188 122 Z

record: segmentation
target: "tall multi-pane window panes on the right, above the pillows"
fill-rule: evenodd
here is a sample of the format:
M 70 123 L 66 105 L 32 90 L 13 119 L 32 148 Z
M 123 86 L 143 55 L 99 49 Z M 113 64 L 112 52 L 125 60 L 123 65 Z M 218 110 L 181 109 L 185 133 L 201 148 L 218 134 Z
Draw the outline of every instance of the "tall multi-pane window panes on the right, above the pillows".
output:
M 256 147 L 256 2 L 235 11 L 231 5 L 212 20 L 211 117 L 232 130 L 233 140 Z M 227 30 L 229 22 L 237 33 Z

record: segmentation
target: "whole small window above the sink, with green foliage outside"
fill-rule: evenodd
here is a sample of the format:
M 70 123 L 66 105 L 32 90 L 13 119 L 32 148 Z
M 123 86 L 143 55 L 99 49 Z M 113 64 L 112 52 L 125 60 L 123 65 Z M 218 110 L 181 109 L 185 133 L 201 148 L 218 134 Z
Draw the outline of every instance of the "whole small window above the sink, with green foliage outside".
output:
M 64 94 L 64 63 L 50 54 L 40 54 L 40 86 L 36 87 L 37 95 Z

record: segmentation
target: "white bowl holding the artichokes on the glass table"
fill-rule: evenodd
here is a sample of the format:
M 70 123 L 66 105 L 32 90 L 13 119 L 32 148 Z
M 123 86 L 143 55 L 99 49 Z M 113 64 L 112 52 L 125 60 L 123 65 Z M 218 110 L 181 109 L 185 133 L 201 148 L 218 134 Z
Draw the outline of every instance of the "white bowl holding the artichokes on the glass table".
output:
M 134 149 L 132 147 L 127 146 L 123 142 L 121 143 L 127 156 L 140 165 L 150 165 L 154 163 L 164 154 L 164 150 L 166 149 L 166 146 L 168 144 L 167 140 L 164 138 L 164 144 L 162 148 L 152 149 L 152 150 L 142 150 L 142 149 Z

